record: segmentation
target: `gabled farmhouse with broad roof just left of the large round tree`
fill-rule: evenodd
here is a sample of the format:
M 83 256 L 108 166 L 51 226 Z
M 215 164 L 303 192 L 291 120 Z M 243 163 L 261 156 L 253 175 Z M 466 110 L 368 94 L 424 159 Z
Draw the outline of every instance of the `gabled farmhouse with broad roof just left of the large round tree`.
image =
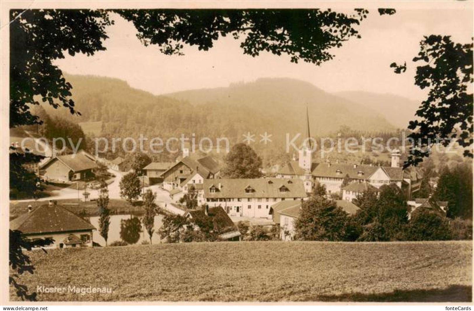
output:
M 168 191 L 180 187 L 182 182 L 196 173 L 204 178 L 219 178 L 219 164 L 211 156 L 197 159 L 191 156 L 184 157 L 161 174 L 163 187 Z

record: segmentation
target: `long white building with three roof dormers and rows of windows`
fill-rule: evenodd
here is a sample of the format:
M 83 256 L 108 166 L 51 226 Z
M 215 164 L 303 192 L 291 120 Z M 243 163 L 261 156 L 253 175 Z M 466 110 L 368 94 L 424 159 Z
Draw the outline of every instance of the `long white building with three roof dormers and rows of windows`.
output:
M 231 216 L 271 219 L 273 204 L 307 198 L 301 179 L 205 179 L 203 187 L 206 204 L 222 206 Z

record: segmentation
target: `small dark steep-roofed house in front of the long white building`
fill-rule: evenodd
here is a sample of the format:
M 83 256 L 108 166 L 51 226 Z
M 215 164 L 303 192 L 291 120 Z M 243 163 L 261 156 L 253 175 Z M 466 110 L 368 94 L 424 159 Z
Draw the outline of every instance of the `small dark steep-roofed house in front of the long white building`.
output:
M 203 220 L 202 223 L 206 223 L 206 220 L 210 220 L 210 223 L 213 224 L 214 230 L 219 232 L 219 238 L 221 240 L 228 241 L 240 241 L 241 234 L 238 231 L 236 225 L 228 214 L 224 211 L 221 206 L 209 207 L 204 206 L 203 209 L 191 210 L 184 214 L 184 217 L 190 218 L 191 220 Z M 201 222 L 195 222 L 201 223 Z M 209 223 L 209 222 L 208 222 Z M 199 227 L 196 229 L 200 229 Z

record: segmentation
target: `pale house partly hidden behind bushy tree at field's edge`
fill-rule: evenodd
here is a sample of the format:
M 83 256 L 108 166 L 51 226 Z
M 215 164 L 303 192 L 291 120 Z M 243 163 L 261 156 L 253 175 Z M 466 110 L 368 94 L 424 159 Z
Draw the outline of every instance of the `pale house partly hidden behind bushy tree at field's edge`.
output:
M 336 204 L 349 215 L 356 214 L 360 209 L 356 204 L 345 200 L 336 200 Z M 292 240 L 295 233 L 294 222 L 300 217 L 301 201 L 286 208 L 282 204 L 272 207 L 275 207 L 273 222 L 280 224 L 280 239 L 283 241 Z

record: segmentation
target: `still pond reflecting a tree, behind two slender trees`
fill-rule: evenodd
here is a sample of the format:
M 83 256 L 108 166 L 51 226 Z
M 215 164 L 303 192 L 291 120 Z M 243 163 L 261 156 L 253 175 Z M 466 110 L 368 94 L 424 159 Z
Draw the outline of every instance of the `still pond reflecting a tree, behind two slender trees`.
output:
M 110 215 L 110 225 L 109 225 L 109 238 L 107 239 L 107 243 L 110 244 L 114 241 L 121 241 L 120 238 L 120 224 L 121 221 L 127 221 L 128 232 L 131 232 L 129 235 L 132 235 L 132 240 L 137 240 L 136 243 L 133 244 L 141 244 L 143 240 L 147 242 L 150 241 L 148 237 L 148 232 L 146 232 L 145 227 L 141 223 L 143 217 L 141 216 L 131 216 L 130 215 Z M 131 221 L 133 219 L 133 221 Z M 97 231 L 94 231 L 94 242 L 99 243 L 101 246 L 105 246 L 105 240 L 102 238 L 99 232 L 99 216 L 90 217 L 91 224 L 97 228 Z M 153 233 L 152 243 L 158 244 L 160 243 L 160 235 L 158 234 L 158 229 L 161 228 L 163 225 L 163 216 L 156 215 L 155 216 L 155 232 Z M 139 235 L 139 236 L 138 236 Z M 129 243 L 130 244 L 130 243 Z

